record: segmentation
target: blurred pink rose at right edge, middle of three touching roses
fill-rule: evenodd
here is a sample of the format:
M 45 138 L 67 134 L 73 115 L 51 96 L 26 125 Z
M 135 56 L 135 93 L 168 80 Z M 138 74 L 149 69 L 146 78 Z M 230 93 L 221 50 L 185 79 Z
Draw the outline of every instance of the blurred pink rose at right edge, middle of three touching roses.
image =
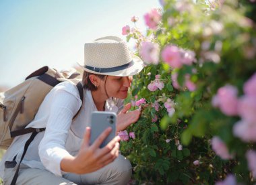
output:
M 245 95 L 241 97 L 238 100 L 238 114 L 245 121 L 256 123 L 256 96 Z

